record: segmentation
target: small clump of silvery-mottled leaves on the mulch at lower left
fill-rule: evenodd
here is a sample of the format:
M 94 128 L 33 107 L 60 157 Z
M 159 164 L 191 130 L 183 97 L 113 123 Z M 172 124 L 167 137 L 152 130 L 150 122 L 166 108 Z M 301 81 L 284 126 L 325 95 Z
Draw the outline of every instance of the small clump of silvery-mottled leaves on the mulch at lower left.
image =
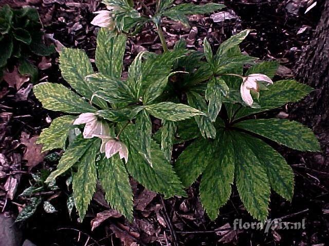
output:
M 31 186 L 26 188 L 22 194 L 20 194 L 20 197 L 28 199 L 29 203 L 17 216 L 15 222 L 23 221 L 31 217 L 41 204 L 43 204 L 43 209 L 46 213 L 56 212 L 56 209 L 50 203 L 50 199 L 52 199 L 52 197 L 45 199 L 47 193 L 52 194 L 53 192 L 59 190 L 59 187 L 56 185 L 56 181 L 53 180 L 52 182 L 45 183 L 45 180 L 49 175 L 49 171 L 44 169 L 38 174 L 31 175 L 33 178 L 33 181 L 30 182 Z

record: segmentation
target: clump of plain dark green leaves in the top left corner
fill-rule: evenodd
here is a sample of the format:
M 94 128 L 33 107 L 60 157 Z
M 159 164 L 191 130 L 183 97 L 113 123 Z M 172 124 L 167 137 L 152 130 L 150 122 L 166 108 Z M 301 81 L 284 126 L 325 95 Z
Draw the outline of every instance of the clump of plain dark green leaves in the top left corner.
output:
M 12 9 L 9 5 L 0 8 L 0 72 L 7 66 L 7 60 L 18 59 L 21 74 L 29 74 L 34 82 L 38 69 L 27 60 L 31 53 L 50 55 L 54 46 L 45 46 L 42 25 L 38 11 L 31 7 Z M 0 77 L 2 74 L 0 74 Z

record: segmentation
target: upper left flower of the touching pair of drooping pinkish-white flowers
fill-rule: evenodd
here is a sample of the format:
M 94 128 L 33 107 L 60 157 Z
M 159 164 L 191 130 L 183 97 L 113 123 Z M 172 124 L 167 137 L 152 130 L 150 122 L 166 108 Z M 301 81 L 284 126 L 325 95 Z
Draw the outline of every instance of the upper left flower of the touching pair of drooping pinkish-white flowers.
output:
M 109 127 L 104 122 L 100 120 L 94 113 L 82 113 L 73 122 L 73 125 L 86 124 L 83 130 L 84 138 L 92 138 L 95 136 L 106 136 L 109 134 Z

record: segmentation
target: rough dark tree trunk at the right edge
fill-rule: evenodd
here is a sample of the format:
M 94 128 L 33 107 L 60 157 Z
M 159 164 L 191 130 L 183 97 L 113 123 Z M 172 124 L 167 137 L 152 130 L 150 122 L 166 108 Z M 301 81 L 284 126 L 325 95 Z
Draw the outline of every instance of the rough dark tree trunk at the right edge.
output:
M 312 94 L 312 107 L 315 116 L 311 118 L 313 127 L 328 127 L 329 121 L 329 1 L 325 1 L 320 22 L 312 42 L 305 47 L 297 63 L 297 79 L 317 89 Z M 306 109 L 305 109 L 306 110 Z M 317 117 L 318 116 L 318 117 Z

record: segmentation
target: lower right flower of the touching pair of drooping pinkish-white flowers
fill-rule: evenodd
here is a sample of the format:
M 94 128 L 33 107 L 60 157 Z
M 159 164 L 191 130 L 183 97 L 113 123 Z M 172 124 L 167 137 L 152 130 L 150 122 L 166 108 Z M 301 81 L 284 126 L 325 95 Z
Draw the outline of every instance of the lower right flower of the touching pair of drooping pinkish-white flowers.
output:
M 120 159 L 124 158 L 125 162 L 128 161 L 128 149 L 123 142 L 113 137 L 100 136 L 100 138 L 102 139 L 101 153 L 105 152 L 106 158 L 111 158 L 119 152 Z

